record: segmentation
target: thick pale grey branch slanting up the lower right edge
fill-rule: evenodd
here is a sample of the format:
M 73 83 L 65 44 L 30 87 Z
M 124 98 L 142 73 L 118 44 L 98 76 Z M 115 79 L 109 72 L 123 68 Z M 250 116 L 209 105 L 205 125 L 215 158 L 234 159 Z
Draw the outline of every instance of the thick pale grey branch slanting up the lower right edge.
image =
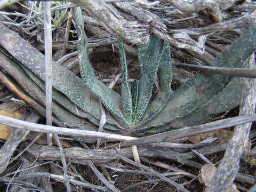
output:
M 247 65 L 255 68 L 254 54 L 246 61 Z M 255 113 L 256 103 L 256 81 L 250 78 L 241 78 L 243 99 L 239 115 Z M 251 123 L 235 127 L 234 136 L 229 141 L 225 156 L 222 159 L 213 180 L 207 186 L 206 191 L 231 191 L 231 185 L 239 170 L 239 162 L 243 155 L 244 145 L 248 139 Z

